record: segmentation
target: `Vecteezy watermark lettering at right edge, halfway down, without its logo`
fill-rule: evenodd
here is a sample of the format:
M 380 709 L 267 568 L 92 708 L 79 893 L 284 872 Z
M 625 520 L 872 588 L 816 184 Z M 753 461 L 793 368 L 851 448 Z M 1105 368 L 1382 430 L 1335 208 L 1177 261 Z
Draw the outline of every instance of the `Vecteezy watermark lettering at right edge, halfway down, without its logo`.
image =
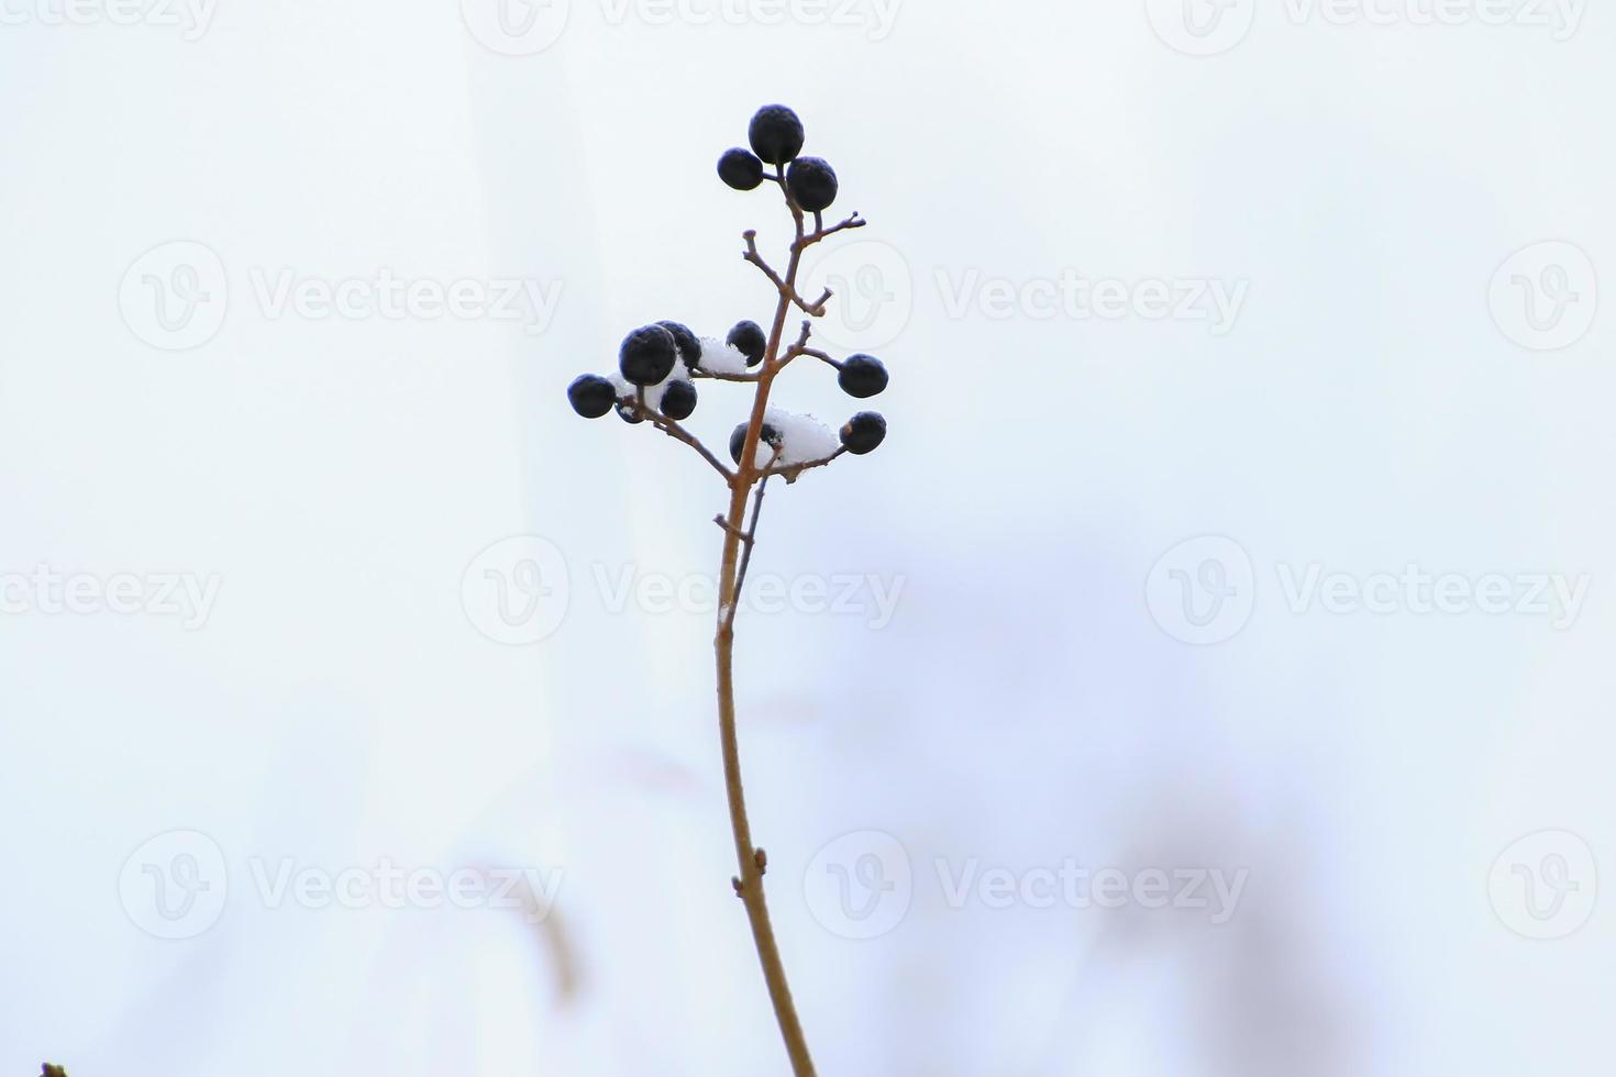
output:
M 1291 614 L 1483 614 L 1545 617 L 1556 631 L 1577 623 L 1593 578 L 1558 572 L 1469 576 L 1433 573 L 1419 565 L 1399 572 L 1325 572 L 1322 565 L 1278 565 L 1280 591 Z

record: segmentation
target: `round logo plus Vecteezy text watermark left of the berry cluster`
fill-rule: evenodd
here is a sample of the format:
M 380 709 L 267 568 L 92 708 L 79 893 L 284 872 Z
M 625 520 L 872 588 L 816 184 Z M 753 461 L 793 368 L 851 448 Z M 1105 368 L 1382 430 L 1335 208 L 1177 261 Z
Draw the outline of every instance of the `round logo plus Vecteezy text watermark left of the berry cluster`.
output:
M 359 276 L 320 276 L 289 266 L 247 270 L 247 294 L 275 321 L 504 321 L 530 336 L 549 328 L 562 281 L 537 278 L 401 276 L 383 266 Z M 118 310 L 136 337 L 178 352 L 207 344 L 229 308 L 225 262 L 207 244 L 176 241 L 136 258 L 123 274 Z

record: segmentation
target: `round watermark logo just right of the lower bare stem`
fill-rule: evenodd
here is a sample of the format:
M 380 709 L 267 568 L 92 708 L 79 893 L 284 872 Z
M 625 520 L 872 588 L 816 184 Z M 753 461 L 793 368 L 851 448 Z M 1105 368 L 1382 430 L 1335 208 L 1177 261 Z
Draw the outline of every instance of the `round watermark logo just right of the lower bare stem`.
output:
M 881 830 L 842 835 L 808 862 L 803 896 L 832 935 L 879 938 L 908 916 L 915 896 L 908 851 Z

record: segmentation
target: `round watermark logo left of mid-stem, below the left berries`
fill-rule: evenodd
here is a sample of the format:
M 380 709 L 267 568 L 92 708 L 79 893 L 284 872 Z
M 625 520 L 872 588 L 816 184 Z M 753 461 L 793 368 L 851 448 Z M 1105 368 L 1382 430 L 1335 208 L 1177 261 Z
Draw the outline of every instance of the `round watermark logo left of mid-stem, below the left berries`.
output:
M 478 554 L 461 576 L 461 607 L 477 631 L 520 647 L 553 636 L 567 617 L 572 578 L 549 539 L 517 534 Z

